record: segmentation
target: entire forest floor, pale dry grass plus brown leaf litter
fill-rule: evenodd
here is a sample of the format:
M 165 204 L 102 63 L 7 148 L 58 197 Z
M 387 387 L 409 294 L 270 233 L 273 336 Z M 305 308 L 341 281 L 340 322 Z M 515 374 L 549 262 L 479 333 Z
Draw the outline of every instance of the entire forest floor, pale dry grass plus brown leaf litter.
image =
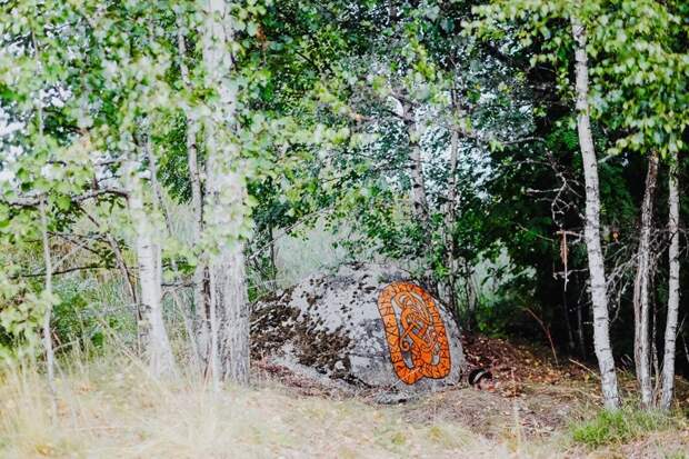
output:
M 495 392 L 459 386 L 405 403 L 254 368 L 253 387 L 213 392 L 161 383 L 122 355 L 62 362 L 54 413 L 43 377 L 0 376 L 2 458 L 679 458 L 689 451 L 689 388 L 670 418 L 598 412 L 596 373 L 548 349 L 473 337 L 470 363 L 490 365 Z M 622 377 L 627 390 L 633 378 Z M 627 392 L 628 397 L 632 392 Z M 600 418 L 600 416 L 599 416 Z

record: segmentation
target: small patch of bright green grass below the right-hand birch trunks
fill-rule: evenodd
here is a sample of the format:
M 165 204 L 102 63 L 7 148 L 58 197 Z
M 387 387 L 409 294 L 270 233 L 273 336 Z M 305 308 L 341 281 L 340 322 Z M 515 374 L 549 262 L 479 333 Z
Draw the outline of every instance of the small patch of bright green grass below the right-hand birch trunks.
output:
M 605 445 L 622 445 L 646 433 L 665 430 L 676 423 L 671 416 L 661 411 L 643 411 L 623 408 L 600 411 L 595 418 L 571 427 L 572 438 L 590 448 Z

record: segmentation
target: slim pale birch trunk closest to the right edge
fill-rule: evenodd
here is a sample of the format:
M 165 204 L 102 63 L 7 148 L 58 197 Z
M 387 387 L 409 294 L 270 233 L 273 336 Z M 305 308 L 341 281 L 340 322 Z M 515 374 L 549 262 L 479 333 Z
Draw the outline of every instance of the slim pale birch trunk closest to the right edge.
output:
M 660 408 L 670 409 L 672 392 L 675 391 L 675 350 L 677 339 L 677 317 L 679 315 L 679 158 L 676 154 L 670 164 L 669 173 L 669 219 L 670 248 L 668 259 L 670 263 L 670 279 L 668 281 L 668 317 L 665 329 L 665 356 L 662 359 L 662 395 Z

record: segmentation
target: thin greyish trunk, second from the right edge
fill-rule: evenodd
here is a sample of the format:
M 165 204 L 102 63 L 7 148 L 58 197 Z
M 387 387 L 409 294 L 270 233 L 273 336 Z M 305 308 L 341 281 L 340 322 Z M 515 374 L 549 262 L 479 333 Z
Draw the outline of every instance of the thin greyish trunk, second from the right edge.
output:
M 653 151 L 648 160 L 646 190 L 641 203 L 641 229 L 639 231 L 639 250 L 637 252 L 637 275 L 633 286 L 635 313 L 635 363 L 637 380 L 641 389 L 641 405 L 652 405 L 652 385 L 649 342 L 649 283 L 651 271 L 651 230 L 653 221 L 653 199 L 658 178 L 658 152 Z

